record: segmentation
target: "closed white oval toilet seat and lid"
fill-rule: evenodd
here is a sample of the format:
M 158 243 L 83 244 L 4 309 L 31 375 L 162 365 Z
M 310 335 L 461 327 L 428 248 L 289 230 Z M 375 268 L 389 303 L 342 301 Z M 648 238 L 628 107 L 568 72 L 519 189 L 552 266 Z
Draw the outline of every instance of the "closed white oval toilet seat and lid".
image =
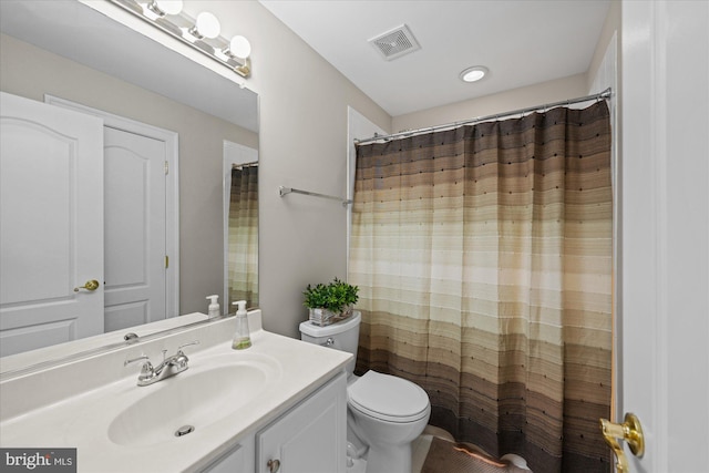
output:
M 402 378 L 367 371 L 347 389 L 350 408 L 394 423 L 415 422 L 429 413 L 429 397 L 421 387 Z

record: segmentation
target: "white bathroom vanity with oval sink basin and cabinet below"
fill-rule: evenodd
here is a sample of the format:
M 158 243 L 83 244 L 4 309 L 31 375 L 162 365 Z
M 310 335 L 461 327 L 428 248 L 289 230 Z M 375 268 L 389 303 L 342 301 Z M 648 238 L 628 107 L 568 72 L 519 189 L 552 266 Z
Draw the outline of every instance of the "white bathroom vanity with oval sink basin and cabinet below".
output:
M 232 349 L 227 317 L 43 368 L 3 360 L 0 446 L 75 448 L 79 472 L 345 472 L 351 354 L 248 317 L 246 350 Z M 179 347 L 188 369 L 150 385 L 142 362 L 124 366 Z

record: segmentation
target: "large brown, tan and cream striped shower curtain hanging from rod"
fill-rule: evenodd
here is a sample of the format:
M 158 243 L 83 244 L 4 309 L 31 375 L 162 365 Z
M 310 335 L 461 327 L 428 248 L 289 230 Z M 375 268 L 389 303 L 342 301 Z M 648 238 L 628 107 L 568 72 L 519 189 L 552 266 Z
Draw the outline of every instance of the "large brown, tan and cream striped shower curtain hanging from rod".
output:
M 612 197 L 604 101 L 358 146 L 358 372 L 535 473 L 608 472 Z

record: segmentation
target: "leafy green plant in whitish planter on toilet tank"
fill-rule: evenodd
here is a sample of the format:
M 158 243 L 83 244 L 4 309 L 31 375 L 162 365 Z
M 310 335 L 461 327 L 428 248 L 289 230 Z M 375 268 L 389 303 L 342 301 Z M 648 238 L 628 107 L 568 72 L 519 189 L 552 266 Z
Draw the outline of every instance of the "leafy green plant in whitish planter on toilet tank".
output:
M 331 282 L 308 285 L 302 292 L 302 302 L 310 310 L 310 320 L 319 326 L 328 326 L 352 315 L 354 302 L 359 299 L 357 286 L 335 278 Z

